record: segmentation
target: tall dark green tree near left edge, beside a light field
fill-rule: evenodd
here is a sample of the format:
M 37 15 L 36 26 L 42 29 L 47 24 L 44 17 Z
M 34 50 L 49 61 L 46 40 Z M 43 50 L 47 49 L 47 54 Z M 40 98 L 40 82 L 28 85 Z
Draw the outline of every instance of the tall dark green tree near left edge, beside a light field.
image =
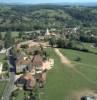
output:
M 9 48 L 14 44 L 14 39 L 11 36 L 11 32 L 6 32 L 4 37 L 4 47 Z

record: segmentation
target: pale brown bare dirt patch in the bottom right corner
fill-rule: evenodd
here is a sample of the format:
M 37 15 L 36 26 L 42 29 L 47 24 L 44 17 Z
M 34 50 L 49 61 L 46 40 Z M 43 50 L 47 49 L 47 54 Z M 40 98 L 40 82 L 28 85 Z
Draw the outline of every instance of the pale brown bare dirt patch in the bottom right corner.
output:
M 81 97 L 83 96 L 96 96 L 97 97 L 96 92 L 94 90 L 83 89 L 83 90 L 74 92 L 72 96 L 74 97 L 75 100 L 81 100 Z

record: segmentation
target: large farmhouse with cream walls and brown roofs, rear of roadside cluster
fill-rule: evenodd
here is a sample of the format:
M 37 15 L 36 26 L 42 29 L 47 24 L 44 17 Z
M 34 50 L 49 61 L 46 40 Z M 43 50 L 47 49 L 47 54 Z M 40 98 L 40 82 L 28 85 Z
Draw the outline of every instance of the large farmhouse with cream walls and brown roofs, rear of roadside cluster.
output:
M 42 66 L 43 58 L 40 54 L 34 55 L 30 58 L 19 57 L 16 61 L 16 73 L 22 73 L 24 71 L 33 72 L 33 70 L 36 70 L 36 73 L 40 73 L 42 72 Z

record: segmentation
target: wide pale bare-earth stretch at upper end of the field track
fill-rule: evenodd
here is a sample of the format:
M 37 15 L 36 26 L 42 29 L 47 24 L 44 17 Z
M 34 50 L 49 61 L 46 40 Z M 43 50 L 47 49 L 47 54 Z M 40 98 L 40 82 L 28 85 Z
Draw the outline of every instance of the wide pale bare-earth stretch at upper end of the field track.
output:
M 65 56 L 59 51 L 59 49 L 55 48 L 54 50 L 55 50 L 56 54 L 60 57 L 61 62 L 62 62 L 63 64 L 67 65 L 68 67 L 72 67 L 72 68 L 74 67 L 74 66 L 71 64 L 71 61 L 70 61 L 67 57 L 65 57 Z

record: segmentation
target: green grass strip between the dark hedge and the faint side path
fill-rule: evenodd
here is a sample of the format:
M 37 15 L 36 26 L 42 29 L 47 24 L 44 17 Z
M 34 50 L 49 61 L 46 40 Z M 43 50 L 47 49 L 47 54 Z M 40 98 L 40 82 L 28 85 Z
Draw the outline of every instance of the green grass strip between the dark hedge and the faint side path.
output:
M 97 65 L 97 55 L 95 54 L 70 49 L 60 49 L 60 51 L 71 61 L 75 61 L 77 57 L 80 57 L 81 60 L 79 61 L 79 63 L 88 64 L 89 66 Z

